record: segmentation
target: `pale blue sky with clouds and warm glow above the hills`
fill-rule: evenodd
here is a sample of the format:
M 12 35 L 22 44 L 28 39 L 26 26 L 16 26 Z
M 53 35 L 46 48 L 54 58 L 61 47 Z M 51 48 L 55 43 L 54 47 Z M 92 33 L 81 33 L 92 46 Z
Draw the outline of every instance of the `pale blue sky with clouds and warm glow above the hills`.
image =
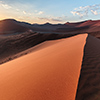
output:
M 57 24 L 100 19 L 100 0 L 0 0 L 0 20 Z

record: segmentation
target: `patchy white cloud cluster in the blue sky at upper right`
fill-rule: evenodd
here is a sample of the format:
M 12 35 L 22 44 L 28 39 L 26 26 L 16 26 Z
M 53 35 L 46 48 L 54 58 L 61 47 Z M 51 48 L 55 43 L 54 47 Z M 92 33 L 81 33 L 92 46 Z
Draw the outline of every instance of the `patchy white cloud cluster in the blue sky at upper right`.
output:
M 78 15 L 80 18 L 88 16 L 89 13 L 92 13 L 93 15 L 100 14 L 100 4 L 98 5 L 90 5 L 90 6 L 80 6 L 78 8 L 75 8 L 71 13 L 75 16 Z

